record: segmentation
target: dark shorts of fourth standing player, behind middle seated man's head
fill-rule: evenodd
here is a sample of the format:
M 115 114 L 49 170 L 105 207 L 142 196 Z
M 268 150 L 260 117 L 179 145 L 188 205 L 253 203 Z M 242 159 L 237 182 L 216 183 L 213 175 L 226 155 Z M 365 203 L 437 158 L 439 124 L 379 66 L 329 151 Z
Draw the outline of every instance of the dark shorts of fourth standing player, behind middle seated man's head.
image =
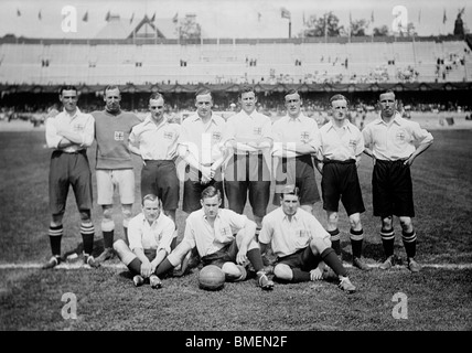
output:
M 193 171 L 191 171 L 193 169 Z M 200 203 L 202 199 L 202 191 L 205 190 L 208 186 L 215 186 L 217 190 L 219 190 L 219 193 L 222 194 L 222 204 L 219 207 L 225 207 L 225 195 L 223 190 L 223 181 L 221 181 L 221 171 L 217 172 L 216 175 L 219 175 L 219 178 L 212 179 L 208 183 L 202 184 L 199 181 L 195 181 L 194 179 L 187 178 L 187 175 L 191 174 L 197 174 L 197 179 L 200 180 L 202 178 L 202 172 L 195 170 L 194 168 L 186 165 L 185 168 L 185 181 L 183 182 L 183 202 L 182 202 L 182 210 L 183 212 L 191 213 L 196 210 L 202 208 L 202 204 Z

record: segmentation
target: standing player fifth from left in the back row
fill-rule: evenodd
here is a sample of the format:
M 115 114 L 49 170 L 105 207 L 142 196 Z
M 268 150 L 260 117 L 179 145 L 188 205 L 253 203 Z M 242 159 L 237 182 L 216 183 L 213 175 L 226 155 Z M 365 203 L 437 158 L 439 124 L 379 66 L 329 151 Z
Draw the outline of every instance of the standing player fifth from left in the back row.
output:
M 244 86 L 239 93 L 242 110 L 227 120 L 225 146 L 232 157 L 225 170 L 225 192 L 229 210 L 243 214 L 249 203 L 258 229 L 270 197 L 271 120 L 256 110 L 256 93 Z

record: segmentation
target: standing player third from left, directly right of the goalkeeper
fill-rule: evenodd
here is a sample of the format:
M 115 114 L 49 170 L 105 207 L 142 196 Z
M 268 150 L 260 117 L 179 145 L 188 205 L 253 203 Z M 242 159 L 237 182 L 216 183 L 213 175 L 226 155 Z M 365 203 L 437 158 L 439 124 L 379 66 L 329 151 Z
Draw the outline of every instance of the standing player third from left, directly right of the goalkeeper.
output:
M 164 117 L 164 98 L 154 93 L 149 98 L 151 114 L 135 126 L 129 136 L 129 150 L 143 160 L 141 196 L 154 194 L 162 200 L 163 211 L 175 223 L 180 183 L 175 159 L 180 126 Z

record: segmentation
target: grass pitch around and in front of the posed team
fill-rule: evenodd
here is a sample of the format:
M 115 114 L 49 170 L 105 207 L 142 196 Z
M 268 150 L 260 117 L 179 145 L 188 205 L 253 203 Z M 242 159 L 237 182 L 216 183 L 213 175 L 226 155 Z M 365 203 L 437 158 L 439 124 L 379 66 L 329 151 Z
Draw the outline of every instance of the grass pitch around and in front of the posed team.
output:
M 432 131 L 433 146 L 412 165 L 420 264 L 471 264 L 472 130 Z M 0 132 L 0 264 L 42 263 L 50 257 L 47 173 L 51 151 L 44 132 Z M 94 168 L 95 149 L 88 151 Z M 135 160 L 139 184 L 140 161 Z M 383 260 L 379 220 L 373 217 L 372 161 L 364 156 L 360 179 L 366 212 L 364 255 Z M 320 175 L 317 174 L 318 182 Z M 95 174 L 93 175 L 96 195 Z M 139 200 L 139 185 L 137 189 Z M 270 205 L 269 210 L 275 206 Z M 135 205 L 135 213 L 139 205 Z M 116 206 L 116 238 L 122 237 Z M 250 215 L 250 208 L 246 207 Z M 325 225 L 321 203 L 314 214 Z M 185 214 L 178 211 L 180 237 Z M 100 253 L 100 210 L 93 211 Z M 343 257 L 351 261 L 348 224 L 340 213 Z M 63 253 L 79 250 L 79 218 L 72 192 L 64 218 Z M 396 254 L 405 258 L 395 222 Z M 114 260 L 114 264 L 118 264 Z M 333 282 L 277 285 L 262 292 L 254 279 L 226 284 L 221 291 L 197 288 L 197 270 L 163 281 L 161 290 L 132 286 L 124 268 L 1 269 L 0 330 L 119 331 L 469 331 L 472 329 L 472 270 L 425 268 L 411 275 L 404 266 L 368 274 L 350 268 L 358 291 L 346 295 Z M 64 319 L 65 293 L 77 299 L 76 319 Z M 406 309 L 395 318 L 404 293 Z M 405 311 L 407 310 L 407 311 Z

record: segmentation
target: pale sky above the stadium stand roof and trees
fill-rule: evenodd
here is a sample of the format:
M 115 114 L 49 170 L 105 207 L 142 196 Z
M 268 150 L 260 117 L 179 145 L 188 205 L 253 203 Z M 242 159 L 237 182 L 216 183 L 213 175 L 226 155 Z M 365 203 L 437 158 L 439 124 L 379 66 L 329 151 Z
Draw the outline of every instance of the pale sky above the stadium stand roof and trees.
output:
M 468 7 L 469 2 L 469 7 Z M 64 32 L 64 7 L 76 9 L 76 32 Z M 391 28 L 394 8 L 406 9 L 407 21 L 415 24 L 419 35 L 452 33 L 460 9 L 465 29 L 472 28 L 472 7 L 469 0 L 0 0 L 0 36 L 14 34 L 26 38 L 94 38 L 105 25 L 108 12 L 122 19 L 142 19 L 144 14 L 158 19 L 175 15 L 183 19 L 194 13 L 205 38 L 288 38 L 289 20 L 281 17 L 281 8 L 290 12 L 291 35 L 303 29 L 303 18 L 332 11 L 340 25 L 352 20 L 373 21 L 367 29 Z M 86 15 L 87 21 L 84 21 Z

